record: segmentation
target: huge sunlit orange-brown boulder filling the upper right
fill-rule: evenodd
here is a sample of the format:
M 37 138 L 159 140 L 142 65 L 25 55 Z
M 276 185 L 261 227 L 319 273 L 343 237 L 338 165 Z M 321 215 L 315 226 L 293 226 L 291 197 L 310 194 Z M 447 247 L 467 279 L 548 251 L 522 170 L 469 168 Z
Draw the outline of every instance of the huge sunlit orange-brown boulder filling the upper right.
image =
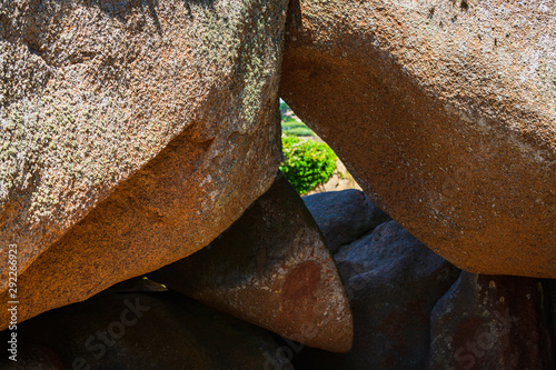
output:
M 459 268 L 556 278 L 556 8 L 289 6 L 282 99 Z

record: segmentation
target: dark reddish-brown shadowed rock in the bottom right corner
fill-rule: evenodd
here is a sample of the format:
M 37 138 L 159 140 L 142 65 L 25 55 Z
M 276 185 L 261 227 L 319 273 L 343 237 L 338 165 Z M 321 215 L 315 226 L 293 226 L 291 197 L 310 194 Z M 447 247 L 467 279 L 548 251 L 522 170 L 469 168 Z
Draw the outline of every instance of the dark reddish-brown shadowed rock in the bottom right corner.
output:
M 540 292 L 535 279 L 461 272 L 430 317 L 425 369 L 554 369 Z

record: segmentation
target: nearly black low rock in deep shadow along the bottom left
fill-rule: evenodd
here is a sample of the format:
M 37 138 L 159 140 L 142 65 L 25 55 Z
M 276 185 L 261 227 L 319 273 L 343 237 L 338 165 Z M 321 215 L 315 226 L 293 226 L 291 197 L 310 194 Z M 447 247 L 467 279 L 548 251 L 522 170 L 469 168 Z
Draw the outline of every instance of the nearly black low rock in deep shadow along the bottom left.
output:
M 0 369 L 251 370 L 271 369 L 280 353 L 268 331 L 176 292 L 102 292 L 17 332 L 18 361 L 2 356 Z

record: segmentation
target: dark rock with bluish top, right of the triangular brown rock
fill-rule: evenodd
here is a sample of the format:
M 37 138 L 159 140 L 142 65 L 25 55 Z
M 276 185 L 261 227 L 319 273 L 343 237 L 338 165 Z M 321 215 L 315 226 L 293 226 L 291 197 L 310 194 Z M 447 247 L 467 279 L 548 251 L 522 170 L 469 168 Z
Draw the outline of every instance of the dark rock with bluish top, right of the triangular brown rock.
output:
M 421 369 L 430 311 L 459 270 L 395 221 L 349 248 L 336 259 L 354 314 L 354 348 L 345 369 Z

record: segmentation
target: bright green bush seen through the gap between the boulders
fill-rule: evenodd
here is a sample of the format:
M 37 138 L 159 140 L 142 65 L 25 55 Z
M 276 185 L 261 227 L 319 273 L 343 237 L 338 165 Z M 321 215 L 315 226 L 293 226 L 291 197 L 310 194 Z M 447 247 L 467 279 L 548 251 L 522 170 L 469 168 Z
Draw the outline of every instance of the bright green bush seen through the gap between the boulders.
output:
M 326 143 L 289 134 L 282 134 L 281 142 L 285 160 L 280 171 L 299 194 L 308 193 L 331 178 L 337 157 Z

